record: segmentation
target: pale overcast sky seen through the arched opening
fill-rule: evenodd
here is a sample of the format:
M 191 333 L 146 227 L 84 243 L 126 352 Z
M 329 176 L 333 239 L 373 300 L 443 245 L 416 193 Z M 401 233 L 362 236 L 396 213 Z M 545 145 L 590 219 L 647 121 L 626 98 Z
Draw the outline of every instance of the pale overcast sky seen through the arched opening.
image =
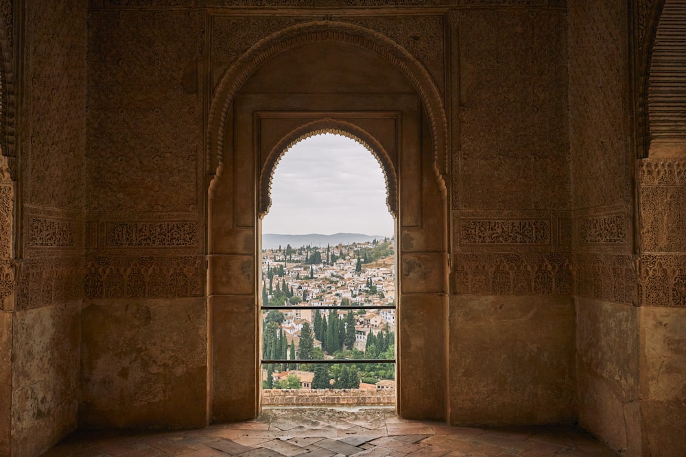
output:
M 379 162 L 355 140 L 323 134 L 281 158 L 262 233 L 393 235 Z

